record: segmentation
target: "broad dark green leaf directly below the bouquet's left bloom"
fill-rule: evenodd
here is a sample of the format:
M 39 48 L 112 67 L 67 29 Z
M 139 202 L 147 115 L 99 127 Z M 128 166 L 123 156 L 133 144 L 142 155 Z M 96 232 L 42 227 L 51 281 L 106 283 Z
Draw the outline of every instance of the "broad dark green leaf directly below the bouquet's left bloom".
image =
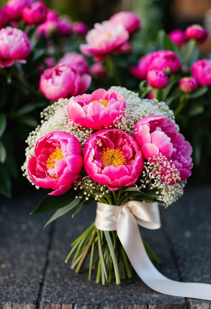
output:
M 63 208 L 75 199 L 75 194 L 76 192 L 73 190 L 58 196 L 47 194 L 31 214 L 44 214 Z

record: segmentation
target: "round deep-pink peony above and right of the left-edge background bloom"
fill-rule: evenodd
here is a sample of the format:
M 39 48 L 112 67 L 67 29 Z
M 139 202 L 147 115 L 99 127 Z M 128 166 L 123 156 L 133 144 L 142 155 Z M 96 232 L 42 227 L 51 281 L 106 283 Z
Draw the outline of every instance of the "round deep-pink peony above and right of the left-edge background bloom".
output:
M 22 11 L 22 17 L 25 23 L 38 24 L 45 21 L 47 7 L 44 2 L 37 1 L 29 6 L 25 6 Z

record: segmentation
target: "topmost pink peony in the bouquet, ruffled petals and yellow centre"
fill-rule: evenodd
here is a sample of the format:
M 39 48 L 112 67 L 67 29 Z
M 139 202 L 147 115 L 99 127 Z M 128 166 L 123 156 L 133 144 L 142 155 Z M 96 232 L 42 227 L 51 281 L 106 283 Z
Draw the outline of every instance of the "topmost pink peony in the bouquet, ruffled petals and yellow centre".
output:
M 117 91 L 97 89 L 92 94 L 71 97 L 67 113 L 71 120 L 89 129 L 114 127 L 124 116 L 125 100 Z M 116 118 L 119 118 L 116 120 Z

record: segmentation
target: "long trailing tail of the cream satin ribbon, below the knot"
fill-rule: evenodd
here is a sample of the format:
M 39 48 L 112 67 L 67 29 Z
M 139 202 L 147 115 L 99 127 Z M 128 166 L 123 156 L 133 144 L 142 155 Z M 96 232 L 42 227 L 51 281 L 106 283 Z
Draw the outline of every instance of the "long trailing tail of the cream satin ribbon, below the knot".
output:
M 126 207 L 118 212 L 117 235 L 136 273 L 151 289 L 171 296 L 211 300 L 210 284 L 174 281 L 156 269 L 144 248 L 136 220 Z

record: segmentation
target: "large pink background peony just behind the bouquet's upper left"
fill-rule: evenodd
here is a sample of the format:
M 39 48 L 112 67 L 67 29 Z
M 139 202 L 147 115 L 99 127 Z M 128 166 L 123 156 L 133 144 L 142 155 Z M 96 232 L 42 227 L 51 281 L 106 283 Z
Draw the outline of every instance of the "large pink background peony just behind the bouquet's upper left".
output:
M 84 93 L 91 83 L 91 76 L 78 73 L 70 66 L 57 64 L 44 70 L 40 77 L 40 90 L 49 100 Z

